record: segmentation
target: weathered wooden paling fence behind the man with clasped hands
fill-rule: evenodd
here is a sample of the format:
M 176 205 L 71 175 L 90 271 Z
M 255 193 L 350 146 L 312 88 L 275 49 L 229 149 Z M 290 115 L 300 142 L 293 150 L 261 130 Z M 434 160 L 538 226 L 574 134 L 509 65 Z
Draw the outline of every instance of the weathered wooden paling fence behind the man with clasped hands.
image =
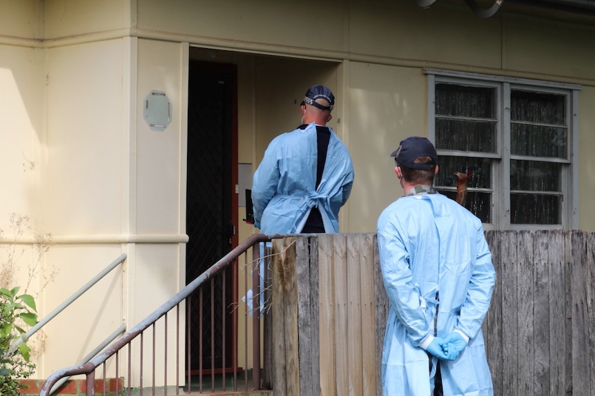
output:
M 483 324 L 494 395 L 595 395 L 595 234 L 486 238 L 498 275 Z M 375 234 L 273 240 L 271 258 L 275 394 L 382 395 L 389 305 Z

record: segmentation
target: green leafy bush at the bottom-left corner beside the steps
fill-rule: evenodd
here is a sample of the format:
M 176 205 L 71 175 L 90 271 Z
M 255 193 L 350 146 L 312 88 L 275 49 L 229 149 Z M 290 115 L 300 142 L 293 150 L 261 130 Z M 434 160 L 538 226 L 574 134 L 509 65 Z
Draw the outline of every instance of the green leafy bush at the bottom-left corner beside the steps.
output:
M 32 295 L 19 295 L 19 287 L 0 288 L 0 395 L 17 396 L 26 388 L 19 378 L 28 378 L 35 371 L 30 362 L 30 347 L 19 340 L 26 333 L 23 324 L 37 324 L 37 309 Z M 17 342 L 18 341 L 18 342 Z

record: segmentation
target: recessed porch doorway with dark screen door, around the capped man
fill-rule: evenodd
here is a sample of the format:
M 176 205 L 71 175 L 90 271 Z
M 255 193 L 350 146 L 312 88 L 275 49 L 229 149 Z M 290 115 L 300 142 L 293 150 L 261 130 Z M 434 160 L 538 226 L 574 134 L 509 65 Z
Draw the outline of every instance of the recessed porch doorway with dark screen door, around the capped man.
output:
M 251 175 L 243 184 L 238 180 L 238 163 L 251 165 L 255 169 L 264 149 L 275 136 L 298 127 L 300 102 L 307 88 L 318 83 L 328 85 L 338 96 L 336 87 L 340 75 L 340 63 L 329 61 L 206 48 L 191 48 L 190 55 L 187 282 L 191 282 L 237 246 L 237 232 L 232 235 L 233 229 L 226 229 L 226 225 L 233 225 L 239 230 L 241 240 L 258 231 L 252 226 L 238 223 L 245 217 L 243 214 L 238 215 L 238 211 L 242 210 L 239 201 L 243 201 L 240 196 L 244 194 L 240 185 L 251 188 Z M 335 131 L 337 119 L 331 121 Z M 243 329 L 237 327 L 244 322 L 241 315 L 239 318 L 233 317 L 237 315 L 237 309 L 226 305 L 231 302 L 232 293 L 240 298 L 244 295 L 244 290 L 238 291 L 238 285 L 241 287 L 244 284 L 243 277 L 248 271 L 235 272 L 226 275 L 225 284 L 213 286 L 217 289 L 213 311 L 226 312 L 224 317 L 215 317 L 213 331 L 210 330 L 210 320 L 201 321 L 198 314 L 202 306 L 203 317 L 207 312 L 210 315 L 211 301 L 204 300 L 199 304 L 198 298 L 193 298 L 196 301 L 188 304 L 188 337 L 192 340 L 188 370 L 193 375 L 240 369 L 230 365 L 233 351 L 248 349 L 242 344 L 238 346 L 234 336 L 242 333 Z M 220 297 L 223 289 L 227 293 L 224 298 Z M 209 329 L 202 334 L 202 353 L 199 352 L 201 324 L 203 329 Z M 224 340 L 222 335 L 225 335 Z M 215 337 L 214 348 L 209 337 Z M 202 359 L 202 370 L 198 368 L 199 359 Z

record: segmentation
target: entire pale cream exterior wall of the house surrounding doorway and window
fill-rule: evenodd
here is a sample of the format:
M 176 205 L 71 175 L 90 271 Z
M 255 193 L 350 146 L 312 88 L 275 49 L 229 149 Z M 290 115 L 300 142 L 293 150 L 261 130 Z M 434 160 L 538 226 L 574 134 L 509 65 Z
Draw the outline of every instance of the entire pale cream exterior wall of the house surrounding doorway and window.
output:
M 344 232 L 373 232 L 378 213 L 401 192 L 389 153 L 402 138 L 427 134 L 424 67 L 581 84 L 579 227 L 595 231 L 594 28 L 505 10 L 478 19 L 462 2 L 438 1 L 427 10 L 378 0 L 317 7 L 0 0 L 0 165 L 10 186 L 0 194 L 0 229 L 17 212 L 55 236 L 43 265 L 60 271 L 39 296 L 41 316 L 128 254 L 124 274 L 110 275 L 48 326 L 39 377 L 76 362 L 121 320 L 136 324 L 184 283 L 192 45 L 204 48 L 200 59 L 237 65 L 238 161 L 253 169 L 274 136 L 298 125 L 306 88 L 331 87 L 331 126 L 355 165 Z M 150 130 L 142 118 L 150 90 L 166 92 L 172 103 L 164 131 Z M 242 207 L 240 241 L 255 232 L 244 216 Z M 99 308 L 82 308 L 86 302 Z M 64 350 L 63 329 L 73 323 L 80 334 L 68 341 L 81 347 Z

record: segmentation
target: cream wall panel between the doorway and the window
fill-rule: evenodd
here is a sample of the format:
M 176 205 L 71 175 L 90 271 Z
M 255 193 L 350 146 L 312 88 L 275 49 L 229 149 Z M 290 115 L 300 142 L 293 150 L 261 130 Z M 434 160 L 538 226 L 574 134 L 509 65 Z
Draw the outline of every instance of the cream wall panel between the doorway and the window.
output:
M 355 183 L 350 232 L 375 232 L 384 207 L 402 195 L 390 154 L 407 136 L 427 135 L 426 83 L 417 68 L 351 63 L 349 143 Z

